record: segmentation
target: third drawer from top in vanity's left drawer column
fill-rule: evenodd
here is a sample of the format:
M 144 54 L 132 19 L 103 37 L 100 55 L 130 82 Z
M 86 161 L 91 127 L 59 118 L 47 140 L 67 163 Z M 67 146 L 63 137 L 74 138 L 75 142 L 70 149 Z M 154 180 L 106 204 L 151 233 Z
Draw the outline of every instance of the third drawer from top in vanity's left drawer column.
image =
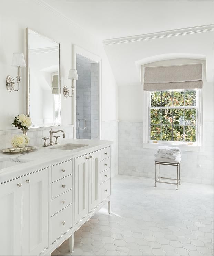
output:
M 51 216 L 72 203 L 72 189 L 51 200 Z

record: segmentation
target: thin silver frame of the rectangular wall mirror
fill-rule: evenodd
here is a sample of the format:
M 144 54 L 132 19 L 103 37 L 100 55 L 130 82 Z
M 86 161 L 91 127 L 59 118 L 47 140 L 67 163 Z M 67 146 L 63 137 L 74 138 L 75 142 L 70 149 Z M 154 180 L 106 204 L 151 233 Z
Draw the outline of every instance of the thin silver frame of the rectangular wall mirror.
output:
M 30 116 L 30 102 L 29 102 L 29 86 L 30 86 L 30 72 L 29 72 L 29 57 L 28 57 L 28 33 L 29 30 L 38 33 L 35 30 L 32 30 L 30 28 L 25 28 L 25 36 L 26 36 L 26 40 L 25 40 L 25 58 L 26 58 L 26 115 Z M 40 34 L 40 33 L 38 33 Z M 42 34 L 40 34 L 42 35 Z M 47 36 L 42 35 L 43 37 L 47 38 L 47 39 L 51 39 Z M 61 125 L 61 65 L 60 65 L 60 43 L 51 39 L 53 42 L 59 44 L 59 113 L 60 113 L 60 118 L 59 118 L 59 125 Z M 59 126 L 59 125 L 51 125 L 51 126 Z M 50 127 L 50 126 L 40 126 L 40 127 Z M 30 128 L 34 128 L 34 127 L 30 127 Z M 38 128 L 38 127 L 37 127 Z

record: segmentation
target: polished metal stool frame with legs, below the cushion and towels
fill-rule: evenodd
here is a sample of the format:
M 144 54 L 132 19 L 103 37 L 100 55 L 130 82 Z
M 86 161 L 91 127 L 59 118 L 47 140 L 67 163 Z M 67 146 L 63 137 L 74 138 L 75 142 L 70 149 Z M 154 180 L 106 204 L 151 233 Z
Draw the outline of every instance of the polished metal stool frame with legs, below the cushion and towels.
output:
M 157 173 L 157 164 L 158 164 L 158 177 L 156 175 L 156 173 Z M 178 185 L 180 185 L 180 164 L 181 164 L 181 162 L 180 163 L 170 163 L 170 162 L 155 161 L 155 188 L 156 188 L 156 183 L 166 183 L 166 184 L 177 185 L 177 189 L 176 190 L 178 190 Z M 177 179 L 160 177 L 160 165 L 176 166 L 177 167 Z M 160 181 L 160 179 L 173 180 L 173 181 L 176 181 L 176 183 Z

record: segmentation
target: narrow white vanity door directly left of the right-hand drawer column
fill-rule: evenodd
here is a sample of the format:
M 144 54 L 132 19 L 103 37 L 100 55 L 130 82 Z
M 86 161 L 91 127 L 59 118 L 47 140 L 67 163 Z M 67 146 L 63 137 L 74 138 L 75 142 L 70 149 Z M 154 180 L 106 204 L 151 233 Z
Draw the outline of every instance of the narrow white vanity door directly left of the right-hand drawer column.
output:
M 89 154 L 89 212 L 100 203 L 100 151 Z

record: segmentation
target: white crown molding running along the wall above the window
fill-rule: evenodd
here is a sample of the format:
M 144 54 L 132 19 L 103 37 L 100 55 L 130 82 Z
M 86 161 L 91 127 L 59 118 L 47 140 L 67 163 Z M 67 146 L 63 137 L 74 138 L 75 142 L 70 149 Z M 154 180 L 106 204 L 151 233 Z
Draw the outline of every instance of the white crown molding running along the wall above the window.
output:
M 169 36 L 180 36 L 180 35 L 187 35 L 187 34 L 194 34 L 194 33 L 202 33 L 202 32 L 213 31 L 213 30 L 214 30 L 214 24 L 208 24 L 203 26 L 173 29 L 173 30 L 155 32 L 155 33 L 149 33 L 149 34 L 136 35 L 136 36 L 126 36 L 126 37 L 106 39 L 106 40 L 103 40 L 103 45 L 129 43 L 129 42 L 169 37 Z

